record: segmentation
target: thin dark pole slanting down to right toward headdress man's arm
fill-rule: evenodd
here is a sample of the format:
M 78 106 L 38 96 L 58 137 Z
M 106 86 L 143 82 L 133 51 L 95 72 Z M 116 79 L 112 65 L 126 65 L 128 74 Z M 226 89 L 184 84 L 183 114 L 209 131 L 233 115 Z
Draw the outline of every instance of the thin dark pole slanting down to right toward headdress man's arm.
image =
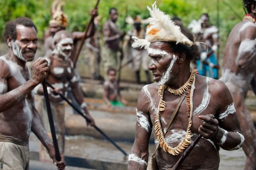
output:
M 54 89 L 54 86 L 53 86 L 53 85 L 51 85 L 51 84 L 48 83 L 48 82 L 46 82 L 46 83 L 47 83 L 47 85 L 48 85 L 49 87 L 51 87 L 52 89 Z M 65 96 L 63 96 L 63 95 L 60 94 L 60 93 L 57 93 L 57 94 L 58 94 L 64 101 L 68 102 L 68 104 L 69 104 L 71 107 L 73 107 L 73 109 L 74 109 L 77 113 L 79 113 L 84 119 L 86 119 L 87 122 L 89 122 L 89 123 L 91 122 L 91 120 L 88 119 L 88 118 L 85 116 L 85 114 L 81 112 L 80 109 L 77 109 L 77 108 L 73 105 L 73 103 L 70 102 Z M 106 137 L 106 139 L 108 139 L 108 140 L 110 141 L 110 143 L 112 143 L 119 151 L 121 151 L 122 153 L 124 153 L 125 156 L 127 156 L 127 153 L 126 153 L 124 150 L 122 150 L 122 148 L 120 148 L 112 139 L 110 139 L 110 137 L 107 136 L 102 130 L 100 130 L 100 128 L 98 128 L 96 125 L 93 125 L 93 127 L 94 127 L 99 133 L 101 133 L 101 135 L 103 135 L 104 137 Z

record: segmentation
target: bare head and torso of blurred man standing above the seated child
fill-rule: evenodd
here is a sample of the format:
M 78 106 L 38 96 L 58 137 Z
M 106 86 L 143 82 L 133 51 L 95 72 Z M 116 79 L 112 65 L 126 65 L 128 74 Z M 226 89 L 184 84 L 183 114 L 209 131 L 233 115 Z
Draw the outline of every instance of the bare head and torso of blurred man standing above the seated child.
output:
M 119 41 L 125 36 L 126 33 L 118 33 L 118 29 L 115 25 L 115 22 L 118 18 L 118 13 L 116 10 L 111 10 L 109 17 L 110 19 L 103 26 L 105 44 L 111 50 L 120 51 L 123 55 L 122 48 L 119 46 Z

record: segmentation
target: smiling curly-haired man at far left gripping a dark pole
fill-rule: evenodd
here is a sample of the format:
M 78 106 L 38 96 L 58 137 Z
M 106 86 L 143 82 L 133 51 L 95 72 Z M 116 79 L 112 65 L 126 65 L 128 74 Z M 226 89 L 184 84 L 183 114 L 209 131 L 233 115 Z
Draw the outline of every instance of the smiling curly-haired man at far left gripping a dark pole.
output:
M 4 39 L 9 47 L 0 57 L 0 167 L 3 170 L 29 169 L 29 136 L 31 131 L 47 149 L 59 170 L 61 161 L 55 160 L 55 150 L 35 108 L 31 92 L 48 71 L 47 61 L 38 58 L 33 63 L 33 74 L 26 66 L 37 51 L 37 27 L 25 17 L 6 23 Z

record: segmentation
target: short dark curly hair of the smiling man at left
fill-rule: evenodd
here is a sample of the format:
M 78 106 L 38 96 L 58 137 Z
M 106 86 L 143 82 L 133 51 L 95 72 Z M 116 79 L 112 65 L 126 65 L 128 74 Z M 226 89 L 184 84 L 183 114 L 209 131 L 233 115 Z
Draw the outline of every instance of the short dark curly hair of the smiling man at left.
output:
M 8 21 L 5 26 L 4 30 L 4 40 L 7 43 L 8 36 L 11 37 L 12 40 L 16 40 L 17 38 L 17 31 L 16 26 L 23 25 L 25 27 L 34 27 L 37 32 L 37 26 L 33 23 L 33 21 L 27 17 L 18 17 L 15 20 Z

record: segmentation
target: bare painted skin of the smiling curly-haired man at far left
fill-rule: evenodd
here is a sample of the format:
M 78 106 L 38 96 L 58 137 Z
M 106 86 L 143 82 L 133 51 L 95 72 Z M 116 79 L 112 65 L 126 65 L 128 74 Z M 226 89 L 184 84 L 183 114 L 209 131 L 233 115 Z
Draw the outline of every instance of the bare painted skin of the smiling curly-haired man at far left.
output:
M 0 92 L 0 133 L 28 142 L 32 131 L 46 147 L 58 169 L 64 170 L 64 156 L 61 155 L 60 162 L 56 161 L 53 143 L 35 108 L 35 99 L 31 92 L 43 81 L 49 69 L 47 61 L 38 58 L 33 63 L 33 74 L 30 77 L 26 61 L 20 60 L 12 48 L 16 43 L 23 59 L 34 60 L 38 48 L 37 32 L 35 28 L 23 25 L 17 25 L 16 31 L 16 40 L 8 36 L 9 51 L 0 59 L 0 83 L 6 87 Z

